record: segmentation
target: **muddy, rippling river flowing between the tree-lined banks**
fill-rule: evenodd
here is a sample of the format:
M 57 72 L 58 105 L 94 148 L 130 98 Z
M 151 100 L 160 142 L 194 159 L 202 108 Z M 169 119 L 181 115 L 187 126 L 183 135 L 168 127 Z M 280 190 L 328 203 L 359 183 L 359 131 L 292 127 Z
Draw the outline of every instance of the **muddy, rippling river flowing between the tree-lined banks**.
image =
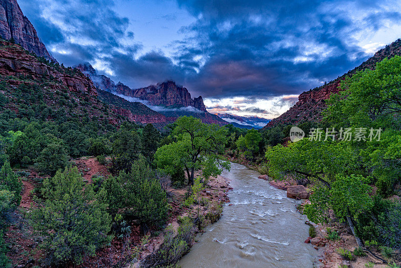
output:
M 260 174 L 232 164 L 222 176 L 231 180 L 231 206 L 218 222 L 198 235 L 198 242 L 182 257 L 186 267 L 313 267 L 318 251 L 304 243 L 309 236 L 300 201 L 286 197 Z

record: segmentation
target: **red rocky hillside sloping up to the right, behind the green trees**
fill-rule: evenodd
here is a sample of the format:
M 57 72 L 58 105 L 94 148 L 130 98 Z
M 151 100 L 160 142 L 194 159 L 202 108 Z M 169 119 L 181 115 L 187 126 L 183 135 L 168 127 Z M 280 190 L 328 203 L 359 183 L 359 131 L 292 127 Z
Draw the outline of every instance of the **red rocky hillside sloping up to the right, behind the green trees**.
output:
M 341 90 L 340 83 L 342 80 L 351 77 L 357 71 L 374 69 L 377 62 L 387 57 L 392 58 L 395 55 L 401 55 L 401 39 L 380 49 L 361 65 L 348 71 L 341 77 L 334 79 L 326 85 L 301 93 L 298 97 L 298 102 L 295 103 L 294 106 L 279 117 L 270 121 L 264 129 L 277 124 L 298 124 L 303 121 L 320 121 L 322 119 L 321 112 L 326 108 L 326 100 L 331 94 L 338 93 Z

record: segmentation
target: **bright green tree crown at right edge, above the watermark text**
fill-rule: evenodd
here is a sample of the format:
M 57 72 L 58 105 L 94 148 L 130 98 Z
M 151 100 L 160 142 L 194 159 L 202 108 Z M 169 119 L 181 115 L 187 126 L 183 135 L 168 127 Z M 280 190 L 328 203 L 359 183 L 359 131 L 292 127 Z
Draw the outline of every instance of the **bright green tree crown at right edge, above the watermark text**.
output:
M 357 72 L 344 80 L 324 111 L 333 126 L 399 128 L 401 121 L 401 57 L 385 58 L 374 70 Z

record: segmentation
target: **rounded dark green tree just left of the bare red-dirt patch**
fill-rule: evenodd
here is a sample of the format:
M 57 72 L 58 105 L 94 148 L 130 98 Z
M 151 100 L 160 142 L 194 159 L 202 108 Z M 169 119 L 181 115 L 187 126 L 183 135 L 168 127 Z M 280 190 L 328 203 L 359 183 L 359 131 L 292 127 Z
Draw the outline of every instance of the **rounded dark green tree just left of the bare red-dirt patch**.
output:
M 67 166 L 67 151 L 61 143 L 51 143 L 43 149 L 35 162 L 39 171 L 53 176 L 59 169 Z

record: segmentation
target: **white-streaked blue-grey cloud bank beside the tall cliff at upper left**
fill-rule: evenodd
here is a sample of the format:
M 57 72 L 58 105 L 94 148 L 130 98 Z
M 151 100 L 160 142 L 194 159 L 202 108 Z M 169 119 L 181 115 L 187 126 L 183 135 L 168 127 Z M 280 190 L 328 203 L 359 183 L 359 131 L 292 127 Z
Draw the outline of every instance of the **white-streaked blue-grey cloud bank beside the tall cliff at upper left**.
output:
M 127 31 L 129 19 L 112 10 L 113 1 L 32 0 L 24 5 L 43 42 L 64 64 L 93 62 L 114 51 L 133 54 L 141 48 Z

